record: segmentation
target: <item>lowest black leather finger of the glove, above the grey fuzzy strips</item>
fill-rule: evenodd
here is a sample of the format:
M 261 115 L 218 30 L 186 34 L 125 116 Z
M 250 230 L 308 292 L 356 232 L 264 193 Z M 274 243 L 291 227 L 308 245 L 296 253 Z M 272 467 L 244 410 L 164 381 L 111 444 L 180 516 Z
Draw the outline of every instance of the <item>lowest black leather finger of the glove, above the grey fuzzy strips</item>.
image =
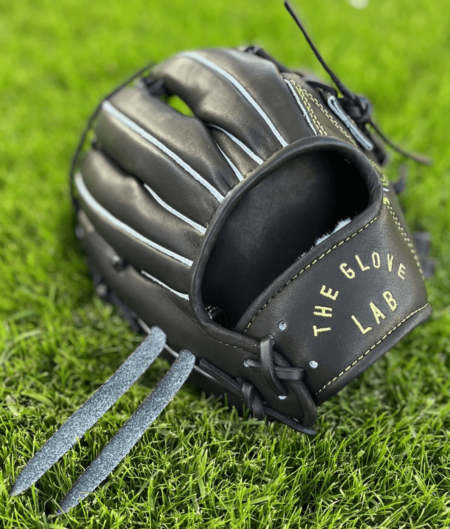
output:
M 272 391 L 261 380 L 262 377 L 244 366 L 246 359 L 259 358 L 259 341 L 237 334 L 230 343 L 213 338 L 199 327 L 188 300 L 147 280 L 132 266 L 120 271 L 111 266 L 109 256 L 113 250 L 110 245 L 95 231 L 83 212 L 78 213 L 78 221 L 85 232 L 84 244 L 90 259 L 109 287 L 147 325 L 166 329 L 167 343 L 174 351 L 189 349 L 196 355 L 198 362 L 201 359 L 209 360 L 220 365 L 232 377 L 254 381 L 262 394 L 267 394 L 270 406 L 296 419 L 303 418 L 302 408 L 293 393 L 284 400 L 272 397 Z M 236 338 L 239 342 L 236 342 Z M 285 385 L 289 388 L 289 381 Z

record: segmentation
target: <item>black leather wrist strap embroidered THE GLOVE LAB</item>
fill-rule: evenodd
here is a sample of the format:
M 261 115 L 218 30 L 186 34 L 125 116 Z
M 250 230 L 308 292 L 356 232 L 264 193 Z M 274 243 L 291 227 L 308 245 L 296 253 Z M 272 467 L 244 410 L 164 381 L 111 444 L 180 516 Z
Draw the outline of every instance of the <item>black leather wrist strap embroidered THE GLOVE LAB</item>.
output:
M 380 355 L 376 344 L 393 329 L 429 313 L 417 262 L 397 222 L 384 204 L 376 220 L 314 265 L 284 273 L 236 326 L 251 336 L 275 336 L 277 351 L 306 369 L 319 402 L 373 363 Z M 279 322 L 286 323 L 284 331 Z

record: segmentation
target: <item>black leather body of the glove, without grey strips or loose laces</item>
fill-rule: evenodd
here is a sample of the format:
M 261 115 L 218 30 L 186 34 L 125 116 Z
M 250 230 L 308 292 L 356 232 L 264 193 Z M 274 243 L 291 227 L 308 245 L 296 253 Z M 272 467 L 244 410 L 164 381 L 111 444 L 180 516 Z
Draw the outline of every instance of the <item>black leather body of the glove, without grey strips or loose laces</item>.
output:
M 399 206 L 392 192 L 383 190 L 388 184 L 373 153 L 356 145 L 320 91 L 286 73 L 293 93 L 276 65 L 253 54 L 195 53 L 169 59 L 152 74 L 197 117 L 137 88 L 120 90 L 110 104 L 188 164 L 219 198 L 105 110 L 95 125 L 100 152 L 91 152 L 82 166 L 89 192 L 110 215 L 192 266 L 133 238 L 82 199 L 85 213 L 78 216 L 86 249 L 114 293 L 147 325 L 160 326 L 175 351 L 187 348 L 197 361 L 251 381 L 269 406 L 302 421 L 288 380 L 283 381 L 288 395 L 281 400 L 261 375 L 245 367 L 246 359 L 260 359 L 260 340 L 275 336 L 275 350 L 306 370 L 305 384 L 320 404 L 428 317 L 425 286 L 404 219 L 396 213 Z M 245 152 L 249 149 L 261 161 Z M 206 233 L 199 235 L 157 204 L 142 183 Z M 383 202 L 384 195 L 390 201 Z M 350 224 L 308 250 L 348 215 L 355 217 Z M 114 252 L 129 266 L 114 268 Z M 355 277 L 347 277 L 341 266 Z M 331 299 L 322 288 L 339 294 Z M 210 320 L 207 304 L 223 306 L 235 330 Z

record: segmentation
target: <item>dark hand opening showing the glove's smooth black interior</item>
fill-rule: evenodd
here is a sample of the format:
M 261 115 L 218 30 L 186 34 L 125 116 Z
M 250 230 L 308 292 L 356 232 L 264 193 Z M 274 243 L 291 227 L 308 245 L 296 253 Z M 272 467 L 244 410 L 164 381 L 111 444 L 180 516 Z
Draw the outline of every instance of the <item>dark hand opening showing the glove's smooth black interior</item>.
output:
M 367 205 L 363 179 L 339 154 L 290 160 L 249 191 L 228 218 L 206 267 L 205 304 L 224 308 L 233 328 L 317 237 Z

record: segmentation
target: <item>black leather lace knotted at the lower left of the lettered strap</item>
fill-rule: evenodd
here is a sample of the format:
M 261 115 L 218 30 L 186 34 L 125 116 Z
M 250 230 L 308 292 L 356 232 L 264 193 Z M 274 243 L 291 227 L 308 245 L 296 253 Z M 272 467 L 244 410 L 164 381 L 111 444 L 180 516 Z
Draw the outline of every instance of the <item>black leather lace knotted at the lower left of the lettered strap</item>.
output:
M 260 341 L 260 351 L 261 361 L 248 359 L 245 360 L 244 366 L 261 373 L 269 387 L 280 399 L 286 398 L 288 394 L 288 390 L 281 383 L 281 380 L 288 380 L 290 390 L 293 391 L 301 404 L 303 410 L 302 422 L 314 424 L 317 419 L 317 410 L 310 392 L 303 383 L 304 369 L 290 366 L 289 362 L 281 354 L 273 350 L 273 338 L 270 335 Z M 305 426 L 284 413 L 278 412 L 264 402 L 261 394 L 250 380 L 232 378 L 206 360 L 200 361 L 200 368 L 210 377 L 213 377 L 220 385 L 224 386 L 227 391 L 242 398 L 245 406 L 251 410 L 254 417 L 261 420 L 266 418 L 266 416 L 273 417 L 297 432 L 308 435 L 315 434 L 313 428 Z

